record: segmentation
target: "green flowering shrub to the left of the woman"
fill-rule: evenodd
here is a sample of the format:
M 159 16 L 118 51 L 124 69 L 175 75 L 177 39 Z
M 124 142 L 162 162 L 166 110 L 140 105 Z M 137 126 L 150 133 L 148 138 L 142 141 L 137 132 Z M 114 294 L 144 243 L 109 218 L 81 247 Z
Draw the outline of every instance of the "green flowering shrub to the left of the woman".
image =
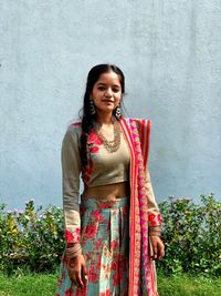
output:
M 62 211 L 50 206 L 34 210 L 34 202 L 24 212 L 3 212 L 0 207 L 0 271 L 54 272 L 64 249 Z

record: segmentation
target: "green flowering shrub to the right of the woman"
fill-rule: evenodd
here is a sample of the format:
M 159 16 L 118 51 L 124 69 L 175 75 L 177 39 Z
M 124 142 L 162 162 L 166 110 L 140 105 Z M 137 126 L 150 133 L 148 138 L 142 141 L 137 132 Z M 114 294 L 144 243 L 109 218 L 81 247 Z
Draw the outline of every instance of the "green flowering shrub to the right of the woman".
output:
M 165 274 L 221 275 L 221 203 L 213 194 L 172 198 L 159 204 L 166 256 L 158 263 Z

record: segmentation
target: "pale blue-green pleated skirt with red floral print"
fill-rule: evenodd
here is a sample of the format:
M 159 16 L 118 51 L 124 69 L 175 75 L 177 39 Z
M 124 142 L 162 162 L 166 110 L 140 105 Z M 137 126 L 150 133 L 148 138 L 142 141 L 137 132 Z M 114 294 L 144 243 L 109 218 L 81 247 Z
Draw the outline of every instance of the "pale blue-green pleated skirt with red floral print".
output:
M 88 280 L 82 290 L 72 284 L 62 258 L 56 296 L 127 296 L 129 265 L 129 198 L 88 198 L 81 204 L 81 245 Z

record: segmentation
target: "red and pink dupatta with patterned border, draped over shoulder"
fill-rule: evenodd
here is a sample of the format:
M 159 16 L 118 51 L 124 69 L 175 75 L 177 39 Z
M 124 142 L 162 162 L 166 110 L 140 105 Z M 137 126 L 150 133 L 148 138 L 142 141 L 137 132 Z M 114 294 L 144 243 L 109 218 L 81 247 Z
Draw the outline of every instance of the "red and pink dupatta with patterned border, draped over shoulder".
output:
M 150 258 L 148 192 L 145 186 L 150 121 L 122 119 L 119 123 L 130 150 L 128 296 L 158 296 L 155 263 Z

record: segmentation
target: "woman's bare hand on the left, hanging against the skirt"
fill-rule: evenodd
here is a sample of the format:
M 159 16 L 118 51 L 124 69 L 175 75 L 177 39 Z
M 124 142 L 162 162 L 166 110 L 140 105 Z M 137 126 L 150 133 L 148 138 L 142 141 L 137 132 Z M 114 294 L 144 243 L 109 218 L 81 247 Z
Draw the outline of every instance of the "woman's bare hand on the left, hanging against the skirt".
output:
M 74 285 L 84 288 L 87 282 L 87 271 L 83 255 L 70 258 L 67 264 L 69 276 Z

